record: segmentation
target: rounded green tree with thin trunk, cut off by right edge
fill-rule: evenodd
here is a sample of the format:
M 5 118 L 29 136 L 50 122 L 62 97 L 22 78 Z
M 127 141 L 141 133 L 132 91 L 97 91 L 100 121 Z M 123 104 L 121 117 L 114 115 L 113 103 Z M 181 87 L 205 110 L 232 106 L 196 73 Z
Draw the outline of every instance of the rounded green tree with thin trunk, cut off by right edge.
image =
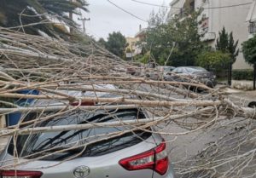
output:
M 253 89 L 256 86 L 256 36 L 242 43 L 242 53 L 248 64 L 253 65 Z

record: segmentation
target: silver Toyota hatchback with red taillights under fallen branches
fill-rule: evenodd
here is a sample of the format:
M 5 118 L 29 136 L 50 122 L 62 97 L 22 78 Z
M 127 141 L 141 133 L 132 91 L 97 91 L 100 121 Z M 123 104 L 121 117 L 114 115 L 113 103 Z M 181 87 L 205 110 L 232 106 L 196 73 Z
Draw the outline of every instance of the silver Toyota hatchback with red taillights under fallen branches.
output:
M 38 123 L 38 127 L 146 118 L 146 114 L 136 108 L 109 112 L 76 110 Z M 45 116 L 49 114 L 52 112 L 44 112 Z M 24 121 L 38 118 L 39 115 L 44 117 L 42 113 L 31 112 L 26 115 Z M 171 163 L 166 153 L 166 143 L 160 135 L 137 130 L 108 140 L 101 140 L 99 136 L 111 135 L 126 129 L 126 127 L 95 128 L 19 135 L 15 138 L 16 141 L 14 138 L 9 141 L 0 155 L 0 177 L 173 178 Z M 151 129 L 153 128 L 148 128 Z M 87 142 L 91 144 L 83 146 Z M 69 149 L 75 146 L 74 144 L 79 144 L 81 147 Z M 63 149 L 66 151 L 63 152 Z M 16 158 L 19 158 L 21 164 L 6 167 L 15 165 Z

